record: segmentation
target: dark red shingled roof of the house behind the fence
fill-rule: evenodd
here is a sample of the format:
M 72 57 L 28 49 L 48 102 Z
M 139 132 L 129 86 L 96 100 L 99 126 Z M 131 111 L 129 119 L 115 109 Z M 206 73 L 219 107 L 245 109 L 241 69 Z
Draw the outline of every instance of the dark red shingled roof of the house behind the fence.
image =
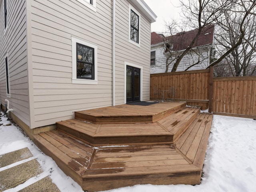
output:
M 189 44 L 192 42 L 193 38 L 196 36 L 197 33 L 198 29 L 195 29 L 187 32 L 180 32 L 175 35 L 164 38 L 162 34 L 152 32 L 151 45 L 164 42 L 164 40 L 168 40 L 172 44 L 172 50 L 184 50 L 189 46 Z M 199 35 L 198 39 L 196 40 L 192 48 L 212 44 L 213 39 L 214 25 L 206 26 L 203 28 L 201 34 Z

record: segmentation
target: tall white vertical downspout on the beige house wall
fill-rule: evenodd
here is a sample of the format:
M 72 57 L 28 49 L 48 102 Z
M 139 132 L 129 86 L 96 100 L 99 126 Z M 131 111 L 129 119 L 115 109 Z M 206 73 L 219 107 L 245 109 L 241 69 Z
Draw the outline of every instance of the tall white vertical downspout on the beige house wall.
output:
M 115 37 L 116 37 L 116 0 L 113 0 L 112 9 L 112 105 L 116 105 L 116 64 L 115 64 Z

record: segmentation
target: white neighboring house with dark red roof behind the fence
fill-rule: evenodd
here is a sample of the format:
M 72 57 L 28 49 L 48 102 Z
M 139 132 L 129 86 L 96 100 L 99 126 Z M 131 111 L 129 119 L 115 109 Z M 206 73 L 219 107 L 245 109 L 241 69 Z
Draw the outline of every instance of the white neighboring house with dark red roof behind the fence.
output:
M 188 32 L 180 32 L 168 37 L 152 32 L 150 73 L 164 73 L 166 70 L 166 57 L 169 53 L 166 51 L 166 44 L 164 42 L 170 42 L 170 47 L 167 48 L 170 48 L 173 53 L 173 56 L 169 59 L 169 62 L 172 60 L 173 62 L 168 68 L 168 72 L 171 72 L 173 64 L 176 61 L 175 58 L 182 54 L 188 47 L 197 31 L 198 30 L 196 29 Z M 205 69 L 210 64 L 214 48 L 214 25 L 204 28 L 202 31 L 202 34 L 200 34 L 198 40 L 194 43 L 192 50 L 190 50 L 180 61 L 176 71 L 184 71 L 192 64 L 198 62 L 198 60 L 200 60 L 200 62 L 189 70 Z

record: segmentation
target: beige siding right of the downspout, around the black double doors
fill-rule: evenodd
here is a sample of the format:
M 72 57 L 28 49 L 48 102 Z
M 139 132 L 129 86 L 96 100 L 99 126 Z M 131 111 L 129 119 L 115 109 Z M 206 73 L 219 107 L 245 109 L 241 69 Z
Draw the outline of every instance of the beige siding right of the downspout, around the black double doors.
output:
M 130 4 L 116 1 L 116 104 L 123 104 L 126 99 L 124 62 L 143 68 L 142 100 L 149 100 L 150 89 L 150 22 L 140 14 L 140 46 L 130 43 L 129 37 Z

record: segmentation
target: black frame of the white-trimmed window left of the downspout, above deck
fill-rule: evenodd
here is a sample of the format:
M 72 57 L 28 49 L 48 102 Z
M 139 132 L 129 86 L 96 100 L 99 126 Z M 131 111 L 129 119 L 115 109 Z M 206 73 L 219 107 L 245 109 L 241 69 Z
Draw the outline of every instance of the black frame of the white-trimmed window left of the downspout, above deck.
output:
M 85 47 L 85 48 L 89 48 L 92 50 L 92 62 L 86 62 L 86 61 L 83 61 L 83 60 L 79 60 L 78 59 L 78 46 L 82 46 L 82 47 Z M 80 44 L 80 43 L 76 43 L 76 78 L 77 79 L 88 79 L 88 80 L 94 80 L 95 78 L 95 70 L 94 70 L 94 48 L 92 47 L 89 47 L 89 46 L 86 46 L 86 45 L 83 45 L 83 44 Z M 78 76 L 78 62 L 80 63 L 84 63 L 84 64 L 88 64 L 88 65 L 91 65 L 92 66 L 92 77 L 88 78 L 88 77 L 83 77 L 83 76 Z

